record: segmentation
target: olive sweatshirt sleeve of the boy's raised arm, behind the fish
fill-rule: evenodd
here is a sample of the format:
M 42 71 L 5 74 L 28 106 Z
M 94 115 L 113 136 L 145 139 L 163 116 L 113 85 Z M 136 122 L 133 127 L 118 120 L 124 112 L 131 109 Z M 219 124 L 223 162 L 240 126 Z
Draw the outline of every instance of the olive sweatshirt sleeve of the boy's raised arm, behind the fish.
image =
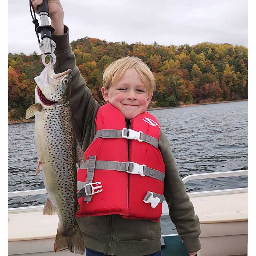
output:
M 92 92 L 86 86 L 84 78 L 80 75 L 80 71 L 76 67 L 75 55 L 69 44 L 68 30 L 68 27 L 64 25 L 64 34 L 52 35 L 52 39 L 56 43 L 54 72 L 60 73 L 68 68 L 72 69 L 71 96 L 69 102 L 76 140 L 82 145 L 82 149 L 85 151 L 94 138 L 95 117 L 100 105 L 93 99 Z

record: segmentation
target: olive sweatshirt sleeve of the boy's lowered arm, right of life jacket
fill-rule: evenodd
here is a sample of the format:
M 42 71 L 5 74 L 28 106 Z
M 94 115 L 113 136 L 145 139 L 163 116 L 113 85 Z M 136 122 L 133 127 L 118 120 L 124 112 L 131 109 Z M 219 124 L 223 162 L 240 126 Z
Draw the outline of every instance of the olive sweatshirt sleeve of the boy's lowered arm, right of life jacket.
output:
M 165 163 L 164 197 L 169 207 L 170 218 L 187 251 L 199 251 L 201 249 L 199 241 L 200 222 L 186 193 L 186 187 L 180 179 L 169 141 L 161 130 L 159 149 Z

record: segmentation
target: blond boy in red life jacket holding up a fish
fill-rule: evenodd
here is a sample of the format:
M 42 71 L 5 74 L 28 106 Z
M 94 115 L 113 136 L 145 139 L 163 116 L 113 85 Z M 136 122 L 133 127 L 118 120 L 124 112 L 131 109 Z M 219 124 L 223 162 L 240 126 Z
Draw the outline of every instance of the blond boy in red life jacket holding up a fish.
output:
M 37 6 L 42 4 L 42 0 L 35 0 L 32 2 L 35 10 L 37 11 Z M 145 201 L 142 202 L 140 198 L 141 202 L 135 204 L 132 209 L 133 202 L 140 197 L 137 196 L 141 193 L 140 187 L 147 186 L 146 183 L 150 183 L 149 188 L 154 187 L 154 189 L 158 191 L 158 194 L 164 195 L 169 207 L 171 220 L 176 225 L 177 232 L 183 240 L 189 255 L 196 255 L 196 252 L 201 248 L 199 241 L 200 223 L 198 217 L 194 212 L 192 203 L 189 201 L 189 196 L 186 193 L 185 186 L 179 178 L 177 164 L 173 158 L 172 150 L 170 149 L 169 142 L 164 135 L 164 132 L 160 130 L 160 125 L 155 117 L 145 112 L 155 89 L 153 74 L 147 65 L 136 57 L 124 57 L 115 61 L 105 70 L 103 75 L 103 87 L 101 92 L 104 100 L 108 102 L 108 104 L 100 107 L 98 102 L 93 99 L 91 91 L 85 85 L 85 81 L 80 76 L 80 72 L 75 65 L 75 56 L 69 44 L 68 27 L 63 25 L 63 9 L 60 2 L 49 0 L 48 6 L 49 15 L 52 20 L 51 24 L 52 27 L 55 28 L 54 35 L 52 35 L 52 39 L 56 43 L 55 73 L 62 72 L 68 68 L 72 69 L 70 106 L 74 119 L 76 140 L 80 145 L 82 145 L 82 149 L 84 151 L 86 150 L 85 155 L 88 154 L 88 156 L 92 156 L 93 154 L 89 154 L 89 151 L 98 152 L 100 150 L 100 153 L 102 153 L 104 150 L 102 154 L 103 158 L 105 158 L 103 160 L 109 161 L 111 160 L 110 156 L 114 155 L 114 160 L 120 161 L 126 153 L 122 153 L 120 155 L 120 159 L 117 159 L 118 157 L 116 154 L 118 154 L 119 151 L 126 150 L 124 152 L 128 152 L 128 160 L 136 157 L 141 160 L 141 157 L 145 154 L 145 150 L 140 150 L 140 147 L 144 147 L 149 151 L 149 153 L 147 152 L 148 155 L 146 155 L 146 159 L 144 157 L 144 160 L 147 163 L 155 164 L 154 167 L 150 166 L 151 169 L 149 168 L 153 173 L 150 174 L 150 177 L 148 177 L 149 175 L 146 175 L 147 177 L 141 177 L 144 172 L 139 172 L 140 175 L 133 175 L 134 170 L 129 169 L 129 164 L 132 163 L 132 161 L 128 161 L 129 166 L 125 166 L 125 168 L 126 171 L 128 170 L 130 172 L 129 174 L 127 174 L 127 172 L 123 172 L 125 170 L 122 172 L 118 172 L 121 170 L 117 170 L 116 172 L 105 171 L 106 179 L 108 179 L 109 184 L 113 180 L 115 181 L 115 179 L 118 179 L 118 182 L 114 182 L 112 186 L 108 184 L 109 187 L 107 187 L 106 185 L 103 185 L 102 182 L 103 186 L 99 186 L 97 188 L 98 190 L 95 189 L 95 192 L 98 193 L 89 196 L 81 189 L 81 193 L 83 192 L 82 194 L 80 193 L 79 198 L 81 210 L 77 212 L 77 216 L 79 217 L 77 217 L 76 220 L 84 238 L 86 255 L 161 255 L 161 228 L 160 221 L 158 221 L 161 216 L 161 203 L 159 203 L 159 201 L 156 202 L 156 205 L 148 203 L 146 195 L 144 198 Z M 138 116 L 141 118 L 138 118 Z M 130 120 L 132 120 L 132 122 L 130 122 Z M 131 130 L 128 129 L 136 127 L 137 121 L 139 125 L 138 129 L 140 129 L 140 127 L 144 129 L 143 131 L 145 134 L 147 133 L 147 129 L 149 133 L 152 131 L 150 134 L 152 136 L 147 134 L 147 136 L 149 136 L 149 140 L 152 139 L 153 141 L 151 144 L 144 141 L 138 142 L 139 140 L 126 139 L 105 139 L 104 143 L 107 143 L 105 146 L 100 146 L 101 144 L 104 144 L 103 142 L 97 142 L 99 138 L 98 133 L 96 132 L 98 132 L 99 129 L 106 129 L 106 127 L 107 130 L 113 128 L 117 129 L 116 126 L 120 126 L 119 123 L 123 122 L 120 126 L 121 130 L 127 128 L 126 131 L 131 132 Z M 99 126 L 101 126 L 101 128 L 99 128 Z M 97 136 L 95 137 L 95 135 Z M 130 136 L 129 132 L 125 136 Z M 134 136 L 136 137 L 138 134 L 136 133 Z M 113 140 L 115 140 L 116 144 L 113 144 Z M 122 147 L 123 141 L 126 143 L 124 144 L 126 145 L 126 148 Z M 129 142 L 127 143 L 127 141 Z M 98 148 L 95 148 L 95 144 L 97 143 L 100 144 L 98 147 L 101 147 L 99 150 Z M 117 148 L 116 151 L 115 148 Z M 137 150 L 135 155 L 133 154 L 134 150 L 131 148 L 135 148 L 134 150 Z M 112 154 L 114 151 L 115 154 Z M 98 156 L 99 154 L 96 155 L 96 162 L 99 160 Z M 88 160 L 88 157 L 86 157 L 86 159 Z M 89 161 L 86 162 L 89 162 L 90 165 L 91 160 L 92 159 L 89 159 Z M 124 160 L 124 162 L 126 161 L 127 159 Z M 95 167 L 96 165 L 94 162 L 93 166 Z M 145 167 L 147 167 L 147 164 Z M 97 175 L 99 177 L 100 173 L 96 169 L 97 168 L 95 167 L 95 172 L 93 169 L 94 183 L 95 181 L 98 181 L 96 177 Z M 110 168 L 110 170 L 112 169 L 116 170 L 114 168 Z M 162 178 L 158 176 L 159 173 Z M 84 187 L 86 182 L 86 177 L 83 178 L 85 180 L 81 181 L 81 177 L 83 175 L 83 170 L 78 170 L 78 182 L 82 182 L 82 187 Z M 102 174 L 100 175 L 103 176 Z M 113 179 L 111 175 L 113 175 Z M 99 177 L 99 179 L 101 178 L 102 177 Z M 127 179 L 129 179 L 129 184 L 133 185 L 129 187 L 128 194 L 125 194 L 124 191 L 128 190 L 128 188 L 126 188 L 128 184 Z M 134 183 L 132 183 L 133 180 Z M 89 183 L 91 184 L 92 180 L 89 181 Z M 100 184 L 98 183 L 97 185 Z M 93 188 L 93 186 L 95 187 L 96 185 L 91 184 L 91 186 Z M 111 190 L 113 187 L 115 189 Z M 125 188 L 124 191 L 122 190 L 123 187 Z M 80 189 L 78 188 L 78 190 Z M 152 192 L 157 193 L 157 191 Z M 159 191 L 162 192 L 160 193 Z M 130 193 L 134 194 L 132 195 Z M 158 195 L 158 197 L 163 195 Z M 96 198 L 96 196 L 101 198 L 101 203 L 106 199 L 106 202 L 104 201 L 104 205 L 107 205 L 107 211 L 104 212 L 104 210 L 102 210 L 103 208 L 96 209 L 100 208 L 99 201 L 96 202 L 95 206 L 95 200 L 93 200 L 93 198 Z M 107 198 L 111 198 L 113 200 L 107 200 Z M 120 198 L 122 198 L 122 200 L 120 200 L 120 202 L 116 202 Z M 127 202 L 124 202 L 127 198 L 131 199 L 129 201 L 130 205 Z M 152 198 L 155 202 L 155 199 L 157 198 L 156 194 L 152 194 L 151 199 Z M 120 206 L 119 204 L 122 205 Z M 127 208 L 127 204 L 130 207 L 129 209 Z M 138 209 L 136 209 L 137 206 Z M 149 210 L 145 211 L 145 209 Z M 155 209 L 158 209 L 157 214 L 155 214 Z M 132 211 L 133 213 L 131 213 Z M 96 216 L 93 216 L 95 214 Z

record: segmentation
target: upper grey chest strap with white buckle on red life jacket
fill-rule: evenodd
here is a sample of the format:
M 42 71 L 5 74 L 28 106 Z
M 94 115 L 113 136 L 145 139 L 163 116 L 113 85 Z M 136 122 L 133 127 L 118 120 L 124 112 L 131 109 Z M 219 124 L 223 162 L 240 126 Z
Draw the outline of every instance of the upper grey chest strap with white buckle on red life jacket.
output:
M 158 148 L 158 140 L 148 134 L 143 132 L 137 132 L 132 129 L 123 128 L 123 130 L 116 130 L 116 129 L 103 129 L 96 132 L 95 137 L 93 140 L 98 138 L 103 139 L 113 139 L 113 138 L 125 138 L 129 140 L 138 140 L 139 142 L 147 142 L 150 145 Z

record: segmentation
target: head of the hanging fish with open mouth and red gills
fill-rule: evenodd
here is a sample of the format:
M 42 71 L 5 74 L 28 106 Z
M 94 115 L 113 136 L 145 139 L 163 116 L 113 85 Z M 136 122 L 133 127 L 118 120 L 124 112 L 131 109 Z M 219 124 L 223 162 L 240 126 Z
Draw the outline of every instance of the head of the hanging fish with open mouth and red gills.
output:
M 72 70 L 69 68 L 59 74 L 54 73 L 53 62 L 49 61 L 39 76 L 35 77 L 35 99 L 44 108 L 59 105 L 69 100 L 69 88 L 72 80 Z

